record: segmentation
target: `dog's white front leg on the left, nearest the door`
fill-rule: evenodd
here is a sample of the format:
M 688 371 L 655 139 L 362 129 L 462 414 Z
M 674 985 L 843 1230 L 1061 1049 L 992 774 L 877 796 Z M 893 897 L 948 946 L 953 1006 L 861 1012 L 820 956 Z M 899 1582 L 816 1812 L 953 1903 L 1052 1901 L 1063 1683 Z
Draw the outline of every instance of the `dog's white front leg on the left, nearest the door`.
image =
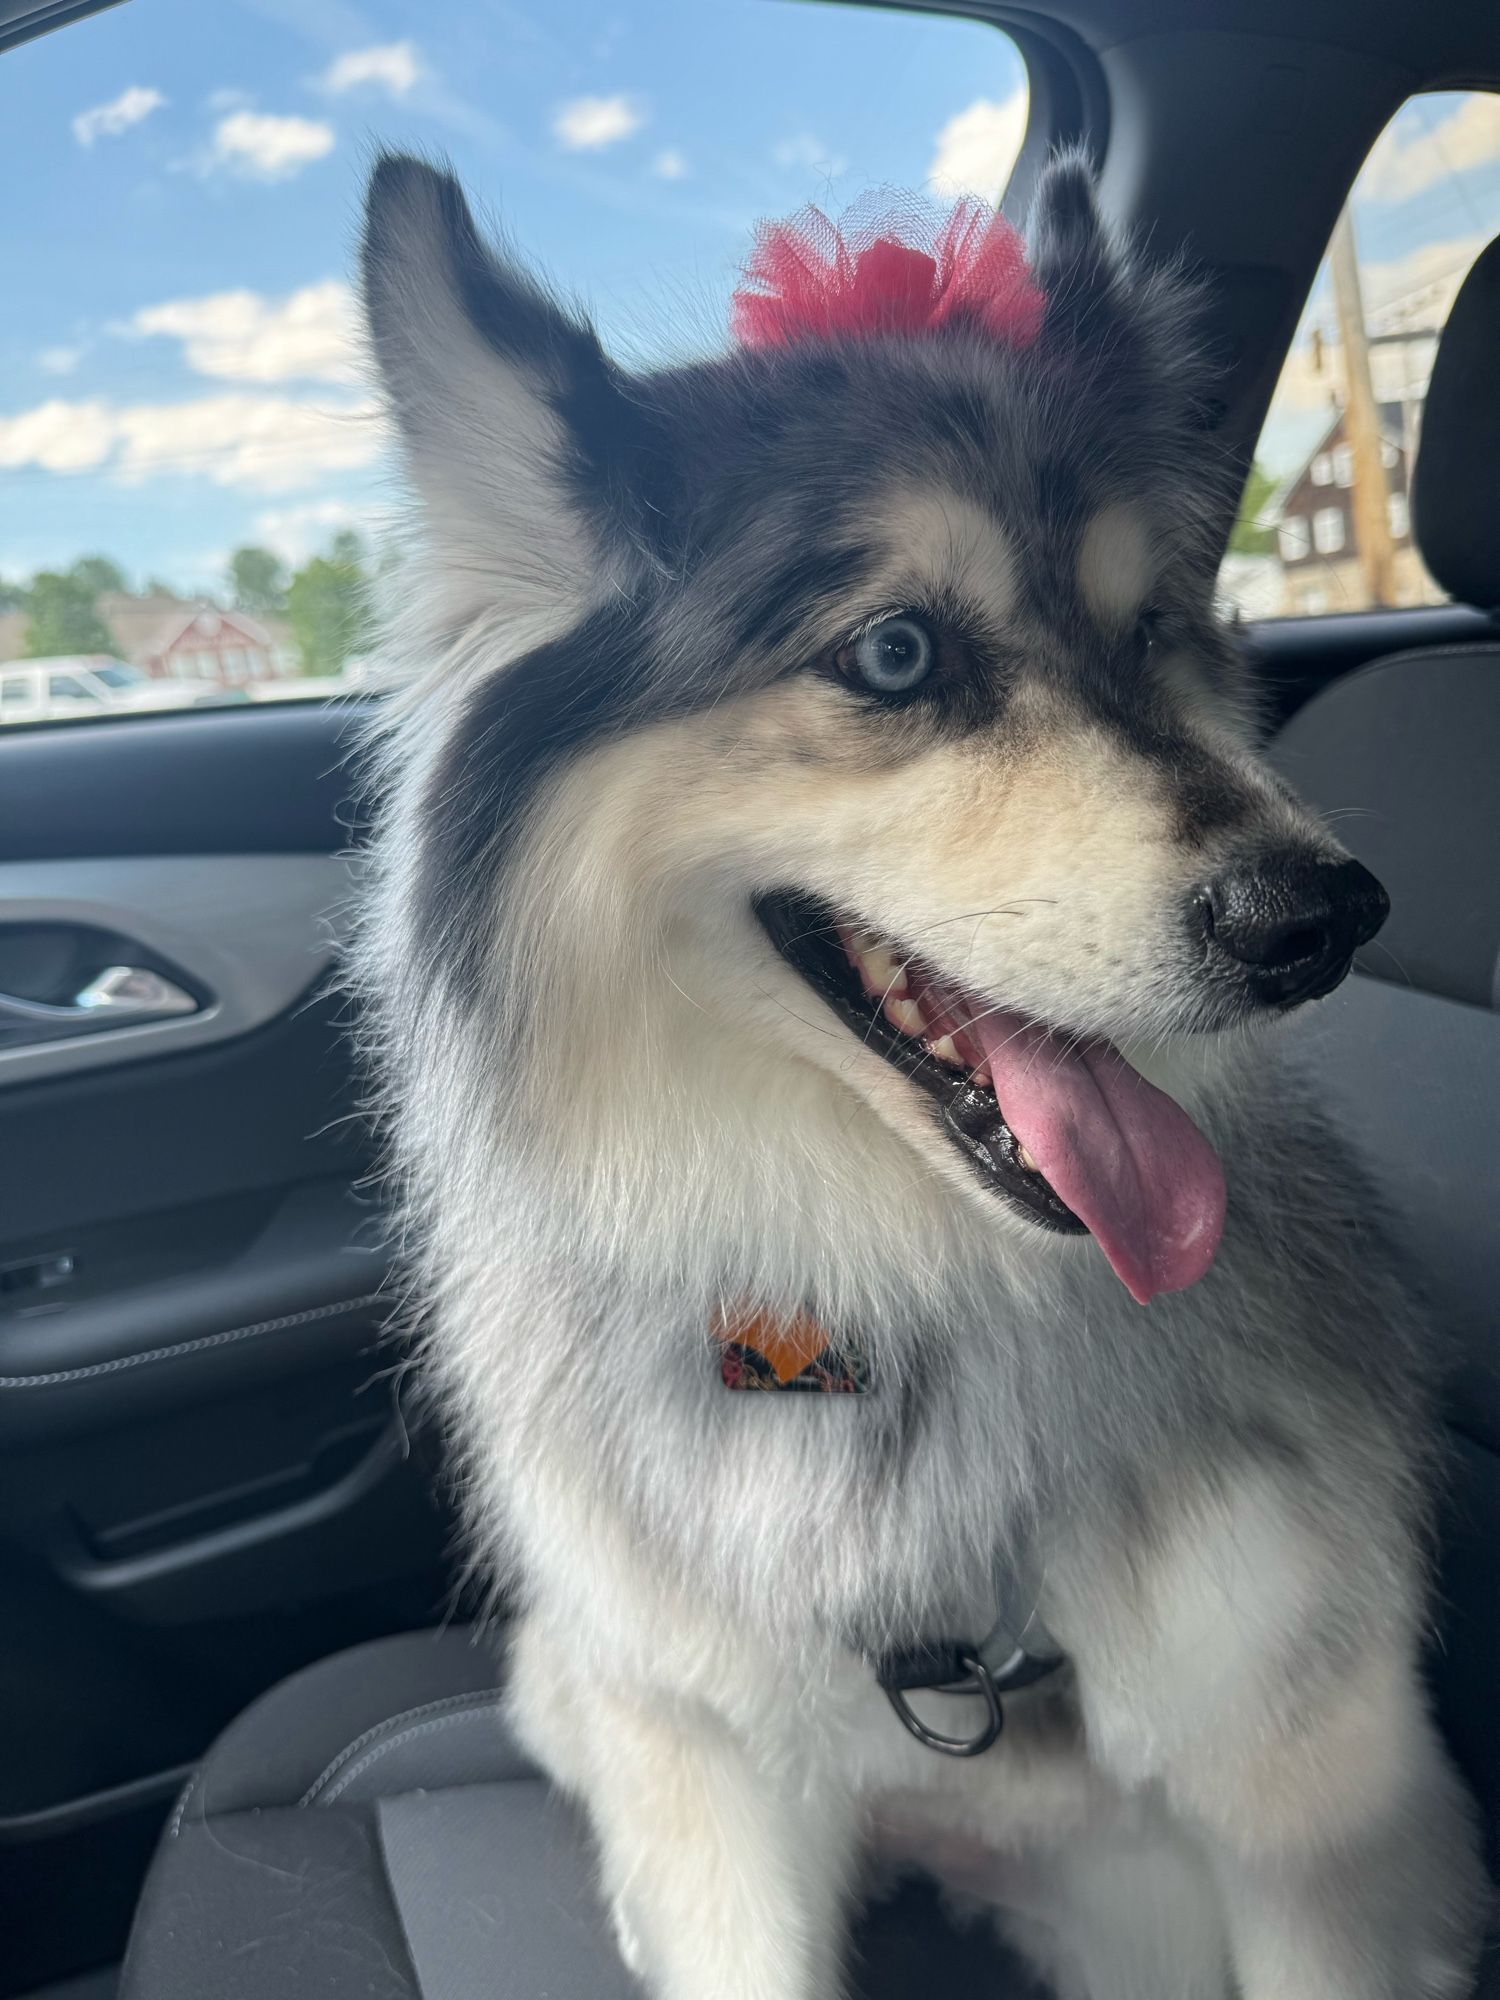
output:
M 838 1786 L 770 1770 L 704 1702 L 578 1692 L 536 1622 L 512 1714 L 588 1810 L 622 1956 L 656 2000 L 834 2000 L 856 1854 Z

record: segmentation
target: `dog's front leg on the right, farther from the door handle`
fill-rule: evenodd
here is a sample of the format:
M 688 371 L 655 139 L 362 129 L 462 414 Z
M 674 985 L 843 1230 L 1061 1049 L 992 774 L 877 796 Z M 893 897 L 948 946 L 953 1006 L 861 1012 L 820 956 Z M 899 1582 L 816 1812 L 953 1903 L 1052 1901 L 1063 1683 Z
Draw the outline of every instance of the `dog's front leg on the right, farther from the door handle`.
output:
M 1082 1552 L 1084 1588 L 1058 1566 L 1090 1754 L 1204 1840 L 1242 2000 L 1462 2000 L 1484 1884 L 1416 1672 L 1416 1558 L 1316 1518 L 1246 1472 L 1150 1552 Z

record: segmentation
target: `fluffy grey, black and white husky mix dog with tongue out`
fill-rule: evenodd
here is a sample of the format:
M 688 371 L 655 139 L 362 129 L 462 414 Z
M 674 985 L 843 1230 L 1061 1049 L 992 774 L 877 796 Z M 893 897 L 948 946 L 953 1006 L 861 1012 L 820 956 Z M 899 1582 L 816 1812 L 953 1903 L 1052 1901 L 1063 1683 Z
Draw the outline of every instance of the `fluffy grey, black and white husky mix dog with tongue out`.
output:
M 1384 894 L 1256 760 L 1188 288 L 1072 158 L 1028 260 L 626 374 L 376 168 L 356 970 L 514 1724 L 660 2000 L 844 1990 L 872 1854 L 1064 1996 L 1458 1996 L 1424 1328 L 1262 1032 Z

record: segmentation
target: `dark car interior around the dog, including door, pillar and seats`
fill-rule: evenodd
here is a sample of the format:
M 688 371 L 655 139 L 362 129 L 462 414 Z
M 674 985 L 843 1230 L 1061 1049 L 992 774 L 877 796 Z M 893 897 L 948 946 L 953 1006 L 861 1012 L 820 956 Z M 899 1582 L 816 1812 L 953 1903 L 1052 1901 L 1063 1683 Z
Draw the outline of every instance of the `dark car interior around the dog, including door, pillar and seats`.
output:
M 876 18 L 758 4 L 854 38 Z M 1500 90 L 1492 0 L 952 12 L 1026 68 L 1006 212 L 1080 146 L 1106 214 L 1202 272 L 1204 452 L 1246 474 L 1382 130 L 1422 94 Z M 82 50 L 104 18 L 0 0 L 0 92 L 34 38 Z M 1436 590 L 1234 630 L 1272 762 L 1392 898 L 1302 1046 L 1446 1362 L 1428 1664 L 1494 1864 L 1500 236 L 1476 248 L 1412 472 Z M 636 1990 L 576 1816 L 498 1722 L 504 1612 L 406 1368 L 420 1300 L 396 1306 L 336 982 L 368 700 L 0 728 L 0 2000 Z M 1030 1990 L 926 1888 L 874 1902 L 854 1990 L 938 1984 Z

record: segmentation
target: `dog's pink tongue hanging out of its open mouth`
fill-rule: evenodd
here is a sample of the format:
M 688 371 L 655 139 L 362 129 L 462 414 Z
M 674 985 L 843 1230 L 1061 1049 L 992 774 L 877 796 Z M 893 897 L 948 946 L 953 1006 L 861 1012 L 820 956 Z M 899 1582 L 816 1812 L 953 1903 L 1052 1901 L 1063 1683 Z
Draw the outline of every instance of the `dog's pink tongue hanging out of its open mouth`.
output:
M 1224 1170 L 1182 1106 L 1108 1042 L 1076 1048 L 1018 1014 L 986 1014 L 970 1034 L 1006 1124 L 1130 1296 L 1144 1306 L 1196 1284 L 1224 1232 Z

